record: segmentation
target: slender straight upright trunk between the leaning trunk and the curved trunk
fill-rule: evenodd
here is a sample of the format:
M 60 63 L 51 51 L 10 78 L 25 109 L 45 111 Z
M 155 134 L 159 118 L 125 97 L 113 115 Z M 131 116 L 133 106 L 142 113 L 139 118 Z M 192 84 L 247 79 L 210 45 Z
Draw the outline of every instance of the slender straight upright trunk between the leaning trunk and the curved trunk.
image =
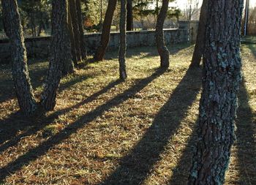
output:
M 125 53 L 127 50 L 127 35 L 126 35 L 126 20 L 127 20 L 127 0 L 121 0 L 120 13 L 120 46 L 119 46 L 119 77 L 121 80 L 127 78 L 127 71 L 125 66 Z

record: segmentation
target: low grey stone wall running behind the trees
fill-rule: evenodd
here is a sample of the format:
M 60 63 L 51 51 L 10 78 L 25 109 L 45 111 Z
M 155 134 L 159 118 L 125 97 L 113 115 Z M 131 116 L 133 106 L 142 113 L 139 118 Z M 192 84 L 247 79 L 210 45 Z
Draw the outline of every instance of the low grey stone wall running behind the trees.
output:
M 167 45 L 188 42 L 189 31 L 187 22 L 181 22 L 179 29 L 165 29 L 165 42 Z M 155 31 L 127 31 L 127 48 L 155 45 Z M 85 34 L 88 53 L 94 53 L 99 45 L 100 33 Z M 49 54 L 50 37 L 26 38 L 25 45 L 28 58 L 47 58 Z M 119 33 L 110 34 L 108 50 L 116 50 L 119 46 Z M 0 64 L 10 62 L 10 44 L 8 39 L 0 39 Z

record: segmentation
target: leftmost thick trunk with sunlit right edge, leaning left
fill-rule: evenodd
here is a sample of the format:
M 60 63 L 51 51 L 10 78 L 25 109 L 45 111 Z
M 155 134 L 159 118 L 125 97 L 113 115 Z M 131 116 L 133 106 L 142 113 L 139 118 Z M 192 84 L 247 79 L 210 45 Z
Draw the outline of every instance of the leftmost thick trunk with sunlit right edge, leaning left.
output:
M 18 97 L 20 110 L 31 116 L 37 109 L 34 94 L 29 79 L 26 48 L 24 45 L 23 30 L 20 24 L 20 15 L 16 0 L 1 0 L 3 10 L 4 30 L 10 38 L 12 50 L 12 78 Z

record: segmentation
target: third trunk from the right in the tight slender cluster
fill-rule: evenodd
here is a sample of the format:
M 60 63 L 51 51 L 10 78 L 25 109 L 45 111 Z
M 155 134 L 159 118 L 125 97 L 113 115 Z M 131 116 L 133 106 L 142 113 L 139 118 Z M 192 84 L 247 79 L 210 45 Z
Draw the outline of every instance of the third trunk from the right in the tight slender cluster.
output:
M 69 1 L 69 0 L 68 0 Z M 69 39 L 71 42 L 71 53 L 72 53 L 72 61 L 74 62 L 75 66 L 78 66 L 78 58 L 77 58 L 77 52 L 75 49 L 75 35 L 73 31 L 73 26 L 72 26 L 72 18 L 71 18 L 71 13 L 70 13 L 70 2 L 67 6 L 67 21 L 68 21 L 68 28 L 69 28 Z

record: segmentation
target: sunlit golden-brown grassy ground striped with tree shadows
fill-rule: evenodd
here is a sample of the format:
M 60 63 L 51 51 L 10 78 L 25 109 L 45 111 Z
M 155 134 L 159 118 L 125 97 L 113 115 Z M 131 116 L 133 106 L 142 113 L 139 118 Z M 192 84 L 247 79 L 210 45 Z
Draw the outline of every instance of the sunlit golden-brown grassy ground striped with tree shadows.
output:
M 126 82 L 117 52 L 61 80 L 56 109 L 29 120 L 18 112 L 10 66 L 0 69 L 0 184 L 186 184 L 201 91 L 190 69 L 193 46 L 127 51 Z M 256 45 L 242 45 L 237 141 L 226 184 L 256 184 Z M 29 61 L 39 98 L 48 62 Z

